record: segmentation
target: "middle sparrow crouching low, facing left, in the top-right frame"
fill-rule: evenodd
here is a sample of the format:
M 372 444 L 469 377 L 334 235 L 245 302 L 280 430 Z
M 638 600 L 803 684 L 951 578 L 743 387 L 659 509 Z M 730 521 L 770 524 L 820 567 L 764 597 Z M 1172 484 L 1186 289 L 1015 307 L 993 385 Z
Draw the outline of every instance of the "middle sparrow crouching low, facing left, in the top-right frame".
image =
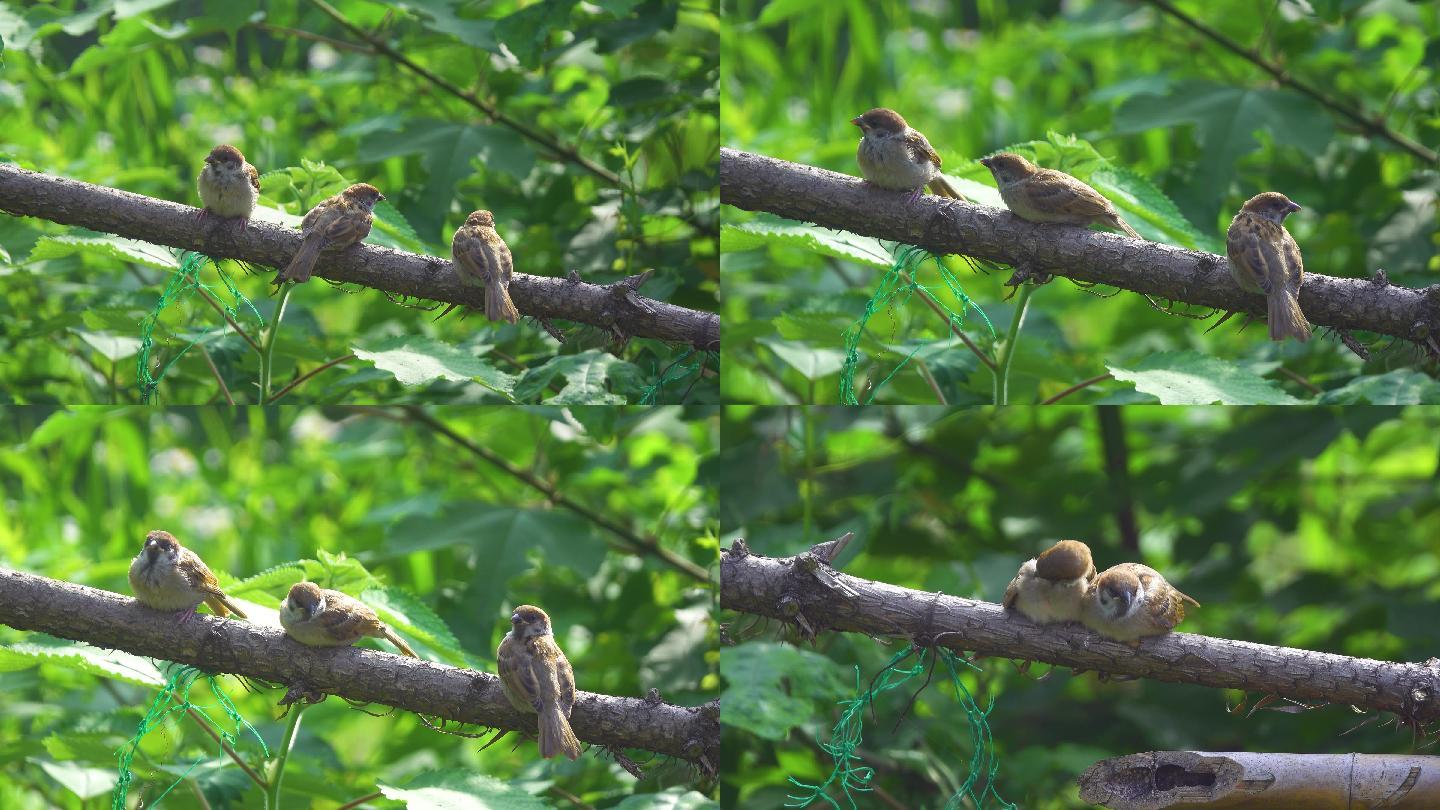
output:
M 1061 225 L 1107 225 L 1136 239 L 1140 238 L 1120 219 L 1110 200 L 1064 172 L 1041 169 L 1008 151 L 981 159 L 981 166 L 991 170 L 1001 199 L 1021 219 Z

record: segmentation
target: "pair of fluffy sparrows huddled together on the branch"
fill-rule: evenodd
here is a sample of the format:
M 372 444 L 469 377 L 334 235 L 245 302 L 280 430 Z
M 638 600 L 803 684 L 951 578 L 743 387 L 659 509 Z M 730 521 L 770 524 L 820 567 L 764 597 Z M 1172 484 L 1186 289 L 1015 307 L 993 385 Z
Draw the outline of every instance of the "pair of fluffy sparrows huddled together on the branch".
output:
M 1090 546 L 1080 540 L 1060 540 L 1021 565 L 1004 600 L 1037 624 L 1079 621 L 1132 647 L 1175 630 L 1185 602 L 1200 607 L 1148 565 L 1122 562 L 1096 575 Z

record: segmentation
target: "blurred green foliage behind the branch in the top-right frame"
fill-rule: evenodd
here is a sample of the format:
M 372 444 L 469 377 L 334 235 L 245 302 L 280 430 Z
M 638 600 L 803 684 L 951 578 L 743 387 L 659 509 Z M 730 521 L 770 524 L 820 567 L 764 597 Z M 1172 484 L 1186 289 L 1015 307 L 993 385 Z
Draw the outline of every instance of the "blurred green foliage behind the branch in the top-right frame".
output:
M 1364 115 L 1384 118 L 1430 150 L 1440 146 L 1434 3 L 1175 4 Z M 1440 271 L 1434 164 L 1358 133 L 1346 117 L 1146 3 L 736 0 L 727 6 L 720 48 L 720 121 L 729 147 L 858 174 L 858 131 L 850 120 L 893 107 L 929 135 L 946 173 L 982 205 L 1001 202 L 975 159 L 1034 146 L 1045 164 L 1106 192 L 1155 241 L 1217 251 L 1246 199 L 1280 190 L 1305 206 L 1287 225 L 1306 270 L 1369 277 L 1384 268 L 1408 287 L 1433 284 Z M 1056 153 L 1054 144 L 1070 138 L 1067 148 L 1076 153 Z M 1080 159 L 1092 148 L 1102 161 Z M 1133 190 L 1152 186 L 1161 197 Z M 742 236 L 775 218 L 732 208 L 723 219 L 726 401 L 840 402 L 841 333 L 858 320 L 880 274 L 851 257 Z M 874 239 L 844 238 L 860 242 L 864 254 L 888 252 Z M 1008 271 L 975 275 L 948 261 L 963 271 L 965 293 L 1004 336 L 1015 313 L 1002 287 Z M 935 268 L 917 281 L 960 310 Z M 1015 347 L 1009 402 L 1053 396 L 1158 352 L 1218 357 L 1300 399 L 1421 360 L 1411 344 L 1364 333 L 1356 337 L 1371 344 L 1369 362 L 1333 339 L 1277 346 L 1263 326 L 1241 330 L 1243 317 L 1205 334 L 1214 319 L 1178 314 L 1208 310 L 1179 304 L 1172 314 L 1162 311 L 1166 301 L 1110 293 L 1063 280 L 1037 291 Z M 965 327 L 995 353 L 978 320 Z M 877 401 L 940 402 L 936 391 L 950 405 L 992 401 L 991 372 L 913 298 L 871 319 L 858 399 L 920 343 L 933 347 L 881 388 Z M 1272 365 L 1261 372 L 1256 363 Z M 1174 370 L 1197 372 L 1192 362 Z M 1336 401 L 1405 401 L 1388 398 L 1394 388 L 1352 388 Z M 1156 401 L 1153 391 L 1125 380 L 1073 396 Z M 1205 402 L 1215 401 L 1231 399 Z M 1277 398 L 1248 399 L 1267 401 Z M 1440 401 L 1440 389 L 1411 401 Z

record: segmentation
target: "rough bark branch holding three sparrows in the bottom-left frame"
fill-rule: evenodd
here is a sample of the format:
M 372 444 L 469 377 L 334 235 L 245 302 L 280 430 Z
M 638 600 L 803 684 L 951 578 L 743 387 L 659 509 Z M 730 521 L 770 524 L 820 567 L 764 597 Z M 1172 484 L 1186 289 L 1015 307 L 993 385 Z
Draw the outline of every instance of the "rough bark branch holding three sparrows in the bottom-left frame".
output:
M 455 722 L 526 734 L 536 726 L 488 672 L 361 647 L 305 647 L 278 627 L 204 614 L 184 624 L 157 621 L 130 597 L 3 568 L 0 624 Z M 687 708 L 577 692 L 570 725 L 585 742 L 654 751 L 707 774 L 720 762 L 717 702 Z

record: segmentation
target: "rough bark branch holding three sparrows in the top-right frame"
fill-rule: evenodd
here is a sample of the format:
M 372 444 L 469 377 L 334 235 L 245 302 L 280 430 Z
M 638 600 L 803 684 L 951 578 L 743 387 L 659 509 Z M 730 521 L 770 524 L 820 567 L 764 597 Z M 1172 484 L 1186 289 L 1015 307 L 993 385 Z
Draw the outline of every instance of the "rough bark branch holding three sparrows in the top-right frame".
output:
M 1171 301 L 1257 316 L 1266 311 L 1263 295 L 1246 293 L 1230 278 L 1225 257 L 1084 228 L 1035 225 L 1005 209 L 935 196 L 912 205 L 904 195 L 870 187 L 858 177 L 733 148 L 720 150 L 720 202 Z M 1431 336 L 1440 336 L 1440 285 L 1410 290 L 1306 272 L 1300 306 L 1313 324 L 1362 329 L 1437 350 Z

